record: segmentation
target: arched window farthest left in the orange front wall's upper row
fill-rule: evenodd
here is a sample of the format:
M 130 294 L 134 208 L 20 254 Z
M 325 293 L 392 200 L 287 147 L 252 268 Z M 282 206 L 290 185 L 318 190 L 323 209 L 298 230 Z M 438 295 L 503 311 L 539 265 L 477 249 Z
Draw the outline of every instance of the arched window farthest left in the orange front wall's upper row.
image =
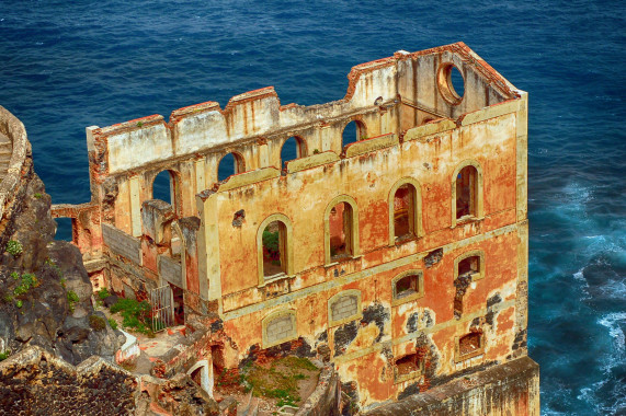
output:
M 283 213 L 265 218 L 257 232 L 259 285 L 294 274 L 293 226 Z

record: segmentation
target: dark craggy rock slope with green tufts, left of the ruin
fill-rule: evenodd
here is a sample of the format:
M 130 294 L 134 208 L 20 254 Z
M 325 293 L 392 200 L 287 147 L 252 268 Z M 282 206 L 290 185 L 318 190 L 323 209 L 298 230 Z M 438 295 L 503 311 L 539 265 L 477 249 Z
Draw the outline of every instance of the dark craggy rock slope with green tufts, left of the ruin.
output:
M 22 182 L 2 238 L 0 349 L 14 354 L 36 345 L 73 365 L 93 355 L 112 360 L 118 335 L 93 309 L 78 247 L 54 241 L 50 197 L 32 162 L 25 163 Z

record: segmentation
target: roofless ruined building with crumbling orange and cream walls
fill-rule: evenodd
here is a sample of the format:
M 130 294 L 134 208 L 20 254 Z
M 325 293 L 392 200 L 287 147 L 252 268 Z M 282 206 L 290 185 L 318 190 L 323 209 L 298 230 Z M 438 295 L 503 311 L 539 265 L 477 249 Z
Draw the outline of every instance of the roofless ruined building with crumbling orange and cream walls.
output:
M 217 315 L 226 367 L 326 356 L 367 408 L 526 355 L 527 94 L 463 43 L 348 78 L 322 105 L 265 88 L 89 127 L 92 200 L 53 213 L 96 288 L 166 288 L 179 324 Z M 169 201 L 152 195 L 163 171 Z

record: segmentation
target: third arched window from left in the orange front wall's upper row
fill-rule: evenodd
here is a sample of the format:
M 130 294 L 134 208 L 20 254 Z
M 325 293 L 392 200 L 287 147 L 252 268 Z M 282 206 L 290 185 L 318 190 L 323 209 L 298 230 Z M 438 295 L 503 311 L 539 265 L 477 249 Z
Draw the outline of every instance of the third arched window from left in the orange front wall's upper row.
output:
M 423 235 L 420 183 L 412 177 L 398 181 L 389 192 L 389 245 Z

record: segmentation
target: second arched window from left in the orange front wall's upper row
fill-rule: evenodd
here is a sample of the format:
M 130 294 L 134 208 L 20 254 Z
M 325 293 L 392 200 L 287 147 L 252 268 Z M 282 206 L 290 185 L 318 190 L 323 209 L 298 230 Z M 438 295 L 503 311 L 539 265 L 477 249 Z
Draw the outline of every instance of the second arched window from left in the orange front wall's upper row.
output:
M 323 227 L 326 264 L 360 255 L 358 210 L 352 197 L 340 195 L 330 201 Z

